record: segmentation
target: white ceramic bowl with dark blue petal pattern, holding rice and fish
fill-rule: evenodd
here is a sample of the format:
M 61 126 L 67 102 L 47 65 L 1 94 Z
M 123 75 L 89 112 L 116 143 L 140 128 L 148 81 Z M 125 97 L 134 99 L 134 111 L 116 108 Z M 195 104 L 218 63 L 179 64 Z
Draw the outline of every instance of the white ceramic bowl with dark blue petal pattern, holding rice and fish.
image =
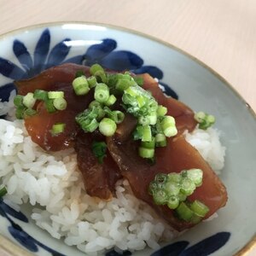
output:
M 172 45 L 137 32 L 90 23 L 27 27 L 0 37 L 0 97 L 6 101 L 15 79 L 26 79 L 64 62 L 98 62 L 115 70 L 150 73 L 195 111 L 217 118 L 227 148 L 221 174 L 229 194 L 218 218 L 196 225 L 158 250 L 132 255 L 233 255 L 253 239 L 256 230 L 256 119 L 252 109 L 217 73 Z M 0 201 L 0 233 L 38 255 L 84 255 L 49 236 L 31 220 L 31 208 L 20 211 Z M 252 243 L 251 243 L 252 244 Z M 131 255 L 131 252 L 106 255 Z

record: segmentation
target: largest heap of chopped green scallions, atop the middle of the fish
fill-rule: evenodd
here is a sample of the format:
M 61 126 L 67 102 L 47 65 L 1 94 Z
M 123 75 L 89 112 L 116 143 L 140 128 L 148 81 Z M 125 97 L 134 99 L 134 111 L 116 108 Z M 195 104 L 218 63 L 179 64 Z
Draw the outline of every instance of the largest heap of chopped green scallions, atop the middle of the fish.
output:
M 88 90 L 94 90 L 95 100 L 90 102 L 89 109 L 93 107 L 97 109 L 93 119 L 87 116 L 88 109 L 85 109 L 84 113 L 79 113 L 76 117 L 79 125 L 85 132 L 99 128 L 103 135 L 113 136 L 116 124 L 121 123 L 125 118 L 125 113 L 119 109 L 111 109 L 119 97 L 120 106 L 125 112 L 137 118 L 137 127 L 133 132 L 134 139 L 148 143 L 153 143 L 154 140 L 152 148 L 140 145 L 138 154 L 145 159 L 154 160 L 154 148 L 166 147 L 166 137 L 173 137 L 177 134 L 175 119 L 166 115 L 167 108 L 159 105 L 150 91 L 143 90 L 140 86 L 143 85 L 141 77 L 132 76 L 129 72 L 105 73 L 99 64 L 90 67 L 90 74 L 88 79 L 81 76 L 73 80 L 73 86 L 77 84 L 79 88 L 84 83 L 86 86 L 89 84 Z

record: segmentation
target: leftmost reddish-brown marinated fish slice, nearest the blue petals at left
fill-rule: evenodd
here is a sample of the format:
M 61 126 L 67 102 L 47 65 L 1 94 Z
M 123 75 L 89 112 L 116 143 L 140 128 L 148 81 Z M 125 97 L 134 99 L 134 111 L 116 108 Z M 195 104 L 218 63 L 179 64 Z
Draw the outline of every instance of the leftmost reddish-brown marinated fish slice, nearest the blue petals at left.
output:
M 49 113 L 43 102 L 37 105 L 38 113 L 25 118 L 25 125 L 32 141 L 37 143 L 41 148 L 50 151 L 58 151 L 69 148 L 73 145 L 78 125 L 74 117 L 88 107 L 93 98 L 90 92 L 86 96 L 77 96 L 73 92 L 72 81 L 75 73 L 79 70 L 88 72 L 87 67 L 64 64 L 59 67 L 52 67 L 38 76 L 15 82 L 20 95 L 26 95 L 34 90 L 57 90 L 63 91 L 67 101 L 67 108 L 62 111 Z M 65 123 L 65 130 L 58 135 L 52 134 L 52 127 L 57 123 Z

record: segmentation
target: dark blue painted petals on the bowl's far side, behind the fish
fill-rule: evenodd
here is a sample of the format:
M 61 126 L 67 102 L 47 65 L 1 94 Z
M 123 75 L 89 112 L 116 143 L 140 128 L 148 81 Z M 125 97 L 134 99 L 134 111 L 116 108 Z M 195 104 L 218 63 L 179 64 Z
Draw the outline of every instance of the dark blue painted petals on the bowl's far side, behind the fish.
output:
M 62 63 L 73 62 L 79 65 L 91 66 L 99 63 L 102 67 L 124 71 L 130 70 L 133 73 L 149 73 L 154 78 L 162 79 L 163 72 L 154 66 L 143 66 L 143 59 L 129 50 L 116 50 L 117 42 L 111 38 L 102 39 L 100 44 L 93 44 L 82 55 L 76 55 L 67 59 L 71 46 L 68 42 L 70 38 L 64 38 L 58 44 L 50 49 L 50 32 L 45 29 L 42 32 L 38 43 L 35 46 L 33 55 L 28 52 L 26 45 L 20 40 L 15 39 L 13 43 L 13 52 L 20 62 L 20 67 L 14 62 L 4 59 L 0 56 L 0 73 L 9 79 L 29 79 L 41 73 L 49 67 L 57 66 Z M 177 98 L 177 94 L 169 86 L 163 84 L 166 94 Z M 0 88 L 0 97 L 2 101 L 9 99 L 9 93 L 15 89 L 13 83 L 4 84 Z

